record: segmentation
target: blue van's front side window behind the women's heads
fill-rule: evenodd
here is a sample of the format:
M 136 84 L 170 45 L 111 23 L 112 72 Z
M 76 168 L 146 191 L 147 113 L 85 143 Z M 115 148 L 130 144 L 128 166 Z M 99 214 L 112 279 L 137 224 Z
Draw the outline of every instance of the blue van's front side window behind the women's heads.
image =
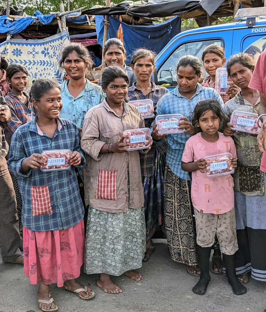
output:
M 202 51 L 206 48 L 206 46 L 209 46 L 212 43 L 218 44 L 219 46 L 222 46 L 224 48 L 224 42 L 220 39 L 185 42 L 181 46 L 178 46 L 177 49 L 168 56 L 167 60 L 158 69 L 158 85 L 169 84 L 170 86 L 176 86 L 176 66 L 177 61 L 180 59 L 180 57 L 190 54 L 197 56 L 199 59 L 201 59 Z

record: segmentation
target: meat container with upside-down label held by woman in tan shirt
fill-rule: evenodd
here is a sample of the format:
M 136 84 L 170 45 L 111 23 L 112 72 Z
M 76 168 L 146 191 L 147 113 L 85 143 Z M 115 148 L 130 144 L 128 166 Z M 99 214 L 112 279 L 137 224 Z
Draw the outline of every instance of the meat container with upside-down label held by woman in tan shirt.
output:
M 123 136 L 125 136 L 123 143 L 130 143 L 125 146 L 126 151 L 147 149 L 151 145 L 151 130 L 149 128 L 125 130 Z

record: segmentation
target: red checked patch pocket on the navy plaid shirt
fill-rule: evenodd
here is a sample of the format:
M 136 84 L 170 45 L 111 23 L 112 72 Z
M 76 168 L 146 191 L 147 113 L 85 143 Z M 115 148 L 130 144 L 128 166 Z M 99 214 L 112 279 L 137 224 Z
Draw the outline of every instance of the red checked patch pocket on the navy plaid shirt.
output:
M 31 185 L 32 216 L 53 213 L 48 185 Z

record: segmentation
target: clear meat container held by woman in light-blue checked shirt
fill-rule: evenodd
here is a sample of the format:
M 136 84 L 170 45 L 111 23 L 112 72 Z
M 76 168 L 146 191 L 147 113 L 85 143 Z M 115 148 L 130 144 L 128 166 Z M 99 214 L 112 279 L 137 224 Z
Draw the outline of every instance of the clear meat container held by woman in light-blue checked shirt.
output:
M 181 114 L 157 115 L 155 122 L 158 124 L 157 128 L 159 134 L 173 134 L 185 131 L 185 129 L 178 129 L 179 119 L 183 117 Z

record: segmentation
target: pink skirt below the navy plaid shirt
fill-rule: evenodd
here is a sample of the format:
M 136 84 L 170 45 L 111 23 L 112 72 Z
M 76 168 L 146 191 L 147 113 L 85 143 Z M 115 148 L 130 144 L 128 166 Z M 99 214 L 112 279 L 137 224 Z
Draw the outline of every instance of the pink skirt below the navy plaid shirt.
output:
M 84 260 L 84 222 L 67 230 L 36 232 L 23 227 L 25 276 L 62 287 L 66 280 L 80 276 Z

